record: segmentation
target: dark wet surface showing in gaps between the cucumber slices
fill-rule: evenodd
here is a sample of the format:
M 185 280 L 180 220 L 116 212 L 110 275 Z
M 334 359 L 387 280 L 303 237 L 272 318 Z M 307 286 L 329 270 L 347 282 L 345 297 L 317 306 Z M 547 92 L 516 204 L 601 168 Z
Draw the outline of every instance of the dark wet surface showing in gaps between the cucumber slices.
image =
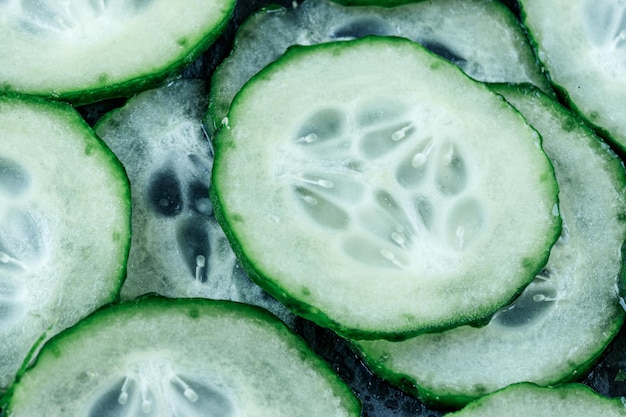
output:
M 513 2 L 508 3 L 508 6 L 516 11 L 516 5 Z M 252 12 L 268 4 L 289 7 L 292 2 L 288 0 L 239 2 L 234 20 L 224 35 L 208 52 L 185 70 L 184 76 L 208 79 L 213 69 L 227 56 L 237 26 Z M 90 123 L 94 123 L 104 112 L 122 103 L 123 100 L 114 100 L 83 107 L 80 110 Z M 321 329 L 301 319 L 297 320 L 295 329 L 352 387 L 363 402 L 363 416 L 439 417 L 444 414 L 442 411 L 429 409 L 416 399 L 373 377 L 349 349 L 348 344 L 329 330 Z M 626 395 L 626 355 L 624 352 L 626 352 L 626 332 L 622 330 L 602 360 L 583 382 L 602 395 Z

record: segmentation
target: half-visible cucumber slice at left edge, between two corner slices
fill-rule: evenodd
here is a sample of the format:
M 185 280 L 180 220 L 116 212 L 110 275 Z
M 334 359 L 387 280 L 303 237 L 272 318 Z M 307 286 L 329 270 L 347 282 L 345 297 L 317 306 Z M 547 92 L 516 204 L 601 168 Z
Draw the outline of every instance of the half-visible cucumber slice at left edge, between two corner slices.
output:
M 129 193 L 70 106 L 0 96 L 0 391 L 43 339 L 117 296 Z

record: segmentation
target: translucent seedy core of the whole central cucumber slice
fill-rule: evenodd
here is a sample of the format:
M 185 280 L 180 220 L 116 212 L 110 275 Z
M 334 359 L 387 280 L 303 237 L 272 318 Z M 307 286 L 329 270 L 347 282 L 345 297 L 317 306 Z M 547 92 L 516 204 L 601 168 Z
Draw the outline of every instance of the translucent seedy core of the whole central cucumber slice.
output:
M 456 137 L 423 126 L 388 99 L 318 109 L 293 136 L 296 153 L 316 161 L 285 161 L 299 210 L 345 232 L 350 258 L 404 269 L 424 247 L 463 251 L 481 235 L 488 212 L 472 194 L 471 155 Z M 381 166 L 381 158 L 399 162 Z

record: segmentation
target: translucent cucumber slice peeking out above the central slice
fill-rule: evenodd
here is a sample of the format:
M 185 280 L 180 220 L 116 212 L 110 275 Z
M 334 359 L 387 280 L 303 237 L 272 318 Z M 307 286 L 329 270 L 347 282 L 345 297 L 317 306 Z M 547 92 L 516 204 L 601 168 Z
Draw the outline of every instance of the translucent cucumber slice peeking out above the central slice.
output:
M 417 41 L 480 81 L 551 89 L 519 21 L 500 2 L 421 1 L 382 9 L 305 0 L 295 8 L 261 10 L 241 25 L 231 55 L 212 76 L 207 125 L 219 127 L 243 84 L 290 46 L 365 35 Z

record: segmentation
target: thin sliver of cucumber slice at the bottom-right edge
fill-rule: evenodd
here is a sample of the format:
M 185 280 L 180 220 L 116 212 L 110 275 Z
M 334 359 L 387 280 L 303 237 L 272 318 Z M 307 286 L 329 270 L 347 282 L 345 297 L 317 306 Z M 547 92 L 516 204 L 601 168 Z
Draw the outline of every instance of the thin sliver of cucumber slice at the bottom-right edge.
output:
M 583 384 L 539 387 L 523 383 L 481 398 L 446 417 L 623 417 L 621 398 L 606 398 Z

